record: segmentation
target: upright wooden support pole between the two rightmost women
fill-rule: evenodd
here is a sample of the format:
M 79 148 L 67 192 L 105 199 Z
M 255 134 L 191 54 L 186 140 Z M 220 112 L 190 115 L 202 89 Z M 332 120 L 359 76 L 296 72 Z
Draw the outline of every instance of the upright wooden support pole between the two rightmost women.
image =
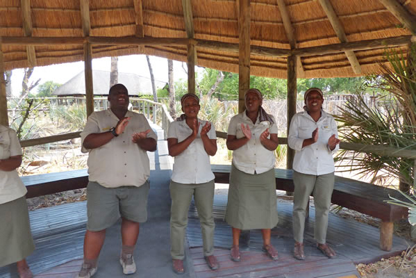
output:
M 297 101 L 297 75 L 296 75 L 296 56 L 288 57 L 288 128 L 287 133 L 289 136 L 290 121 L 294 114 L 296 114 L 296 101 Z M 292 169 L 294 158 L 294 150 L 288 147 L 286 156 L 286 168 Z

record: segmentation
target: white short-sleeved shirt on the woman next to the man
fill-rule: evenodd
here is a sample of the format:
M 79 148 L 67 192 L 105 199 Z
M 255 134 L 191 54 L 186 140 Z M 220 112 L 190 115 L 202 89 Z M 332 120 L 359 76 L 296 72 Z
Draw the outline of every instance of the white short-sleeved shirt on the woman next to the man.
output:
M 172 172 L 172 181 L 177 183 L 206 183 L 215 179 L 211 171 L 210 156 L 206 153 L 201 139 L 201 129 L 207 121 L 199 120 L 198 135 L 181 154 L 175 156 L 175 163 Z M 217 139 L 215 126 L 211 124 L 211 129 L 207 135 L 210 139 Z M 176 138 L 182 142 L 192 134 L 192 129 L 186 121 L 171 122 L 167 131 L 167 138 Z

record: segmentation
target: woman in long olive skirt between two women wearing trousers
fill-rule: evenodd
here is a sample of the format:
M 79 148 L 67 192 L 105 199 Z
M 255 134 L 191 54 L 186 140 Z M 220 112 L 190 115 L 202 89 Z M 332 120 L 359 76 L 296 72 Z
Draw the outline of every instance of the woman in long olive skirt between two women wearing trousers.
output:
M 226 145 L 233 151 L 233 163 L 225 220 L 233 228 L 232 261 L 241 259 L 238 241 L 242 229 L 261 229 L 263 251 L 278 259 L 270 244 L 271 229 L 278 222 L 274 178 L 277 126 L 274 117 L 261 107 L 262 101 L 259 90 L 247 90 L 246 111 L 232 117 L 228 125 Z

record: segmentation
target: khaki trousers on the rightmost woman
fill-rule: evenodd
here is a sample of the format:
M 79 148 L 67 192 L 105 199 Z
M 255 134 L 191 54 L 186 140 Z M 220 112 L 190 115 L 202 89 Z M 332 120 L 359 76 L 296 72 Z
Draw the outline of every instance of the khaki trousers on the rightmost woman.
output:
M 303 243 L 303 230 L 305 229 L 306 206 L 310 193 L 313 193 L 315 202 L 315 240 L 317 243 L 326 243 L 326 229 L 328 229 L 328 213 L 331 206 L 331 195 L 335 181 L 334 173 L 315 176 L 293 171 L 293 237 Z

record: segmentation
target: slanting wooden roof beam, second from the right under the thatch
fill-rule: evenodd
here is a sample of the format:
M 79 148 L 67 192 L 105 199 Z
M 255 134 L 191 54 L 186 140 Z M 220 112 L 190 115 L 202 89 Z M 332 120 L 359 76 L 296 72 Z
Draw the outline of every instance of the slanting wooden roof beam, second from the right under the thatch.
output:
M 331 5 L 331 2 L 329 0 L 319 0 L 319 3 L 321 4 L 326 15 L 328 16 L 329 22 L 331 22 L 331 25 L 333 26 L 333 30 L 335 31 L 338 38 L 340 39 L 340 42 L 348 42 L 347 35 L 345 35 L 344 27 L 342 27 L 340 19 L 336 15 L 335 10 L 333 10 L 333 6 Z M 351 64 L 353 72 L 355 74 L 361 74 L 361 66 L 360 66 L 360 63 L 358 63 L 356 54 L 354 54 L 353 51 L 348 50 L 348 51 L 345 51 L 345 55 L 347 56 L 347 59 L 349 60 L 349 63 Z

